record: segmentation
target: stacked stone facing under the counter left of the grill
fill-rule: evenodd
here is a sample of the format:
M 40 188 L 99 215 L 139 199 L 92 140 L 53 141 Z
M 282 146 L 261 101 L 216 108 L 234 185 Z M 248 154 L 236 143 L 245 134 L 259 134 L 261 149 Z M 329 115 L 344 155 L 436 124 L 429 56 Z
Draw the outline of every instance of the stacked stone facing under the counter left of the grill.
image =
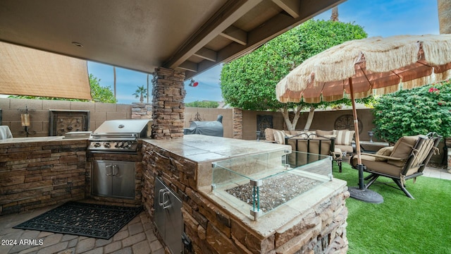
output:
M 85 198 L 87 140 L 0 144 L 0 214 Z

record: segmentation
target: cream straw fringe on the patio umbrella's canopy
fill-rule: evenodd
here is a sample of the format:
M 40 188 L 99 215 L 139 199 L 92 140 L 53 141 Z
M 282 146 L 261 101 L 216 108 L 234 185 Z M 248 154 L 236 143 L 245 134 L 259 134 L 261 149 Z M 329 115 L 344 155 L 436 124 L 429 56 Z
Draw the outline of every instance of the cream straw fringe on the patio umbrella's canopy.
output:
M 423 61 L 426 61 L 428 66 L 450 63 L 451 35 L 401 35 L 387 38 L 371 37 L 344 42 L 312 56 L 297 66 L 278 84 L 276 94 L 280 102 L 299 102 L 301 99 L 309 103 L 319 103 L 321 100 L 330 102 L 342 99 L 346 92 L 343 91 L 343 95 L 321 95 L 320 98 L 305 99 L 302 96 L 302 91 L 309 86 L 322 85 L 323 82 L 347 80 L 347 78 L 356 74 L 355 64 L 362 61 L 364 61 L 366 71 L 381 73 L 409 66 L 420 59 L 424 59 Z M 371 94 L 383 95 L 399 89 L 419 87 L 433 83 L 435 80 L 446 80 L 447 78 L 451 78 L 451 71 L 449 70 L 409 81 L 401 79 L 399 84 L 389 85 L 388 87 L 378 89 L 371 89 L 370 87 L 368 91 L 354 92 L 354 95 L 357 99 L 368 97 Z

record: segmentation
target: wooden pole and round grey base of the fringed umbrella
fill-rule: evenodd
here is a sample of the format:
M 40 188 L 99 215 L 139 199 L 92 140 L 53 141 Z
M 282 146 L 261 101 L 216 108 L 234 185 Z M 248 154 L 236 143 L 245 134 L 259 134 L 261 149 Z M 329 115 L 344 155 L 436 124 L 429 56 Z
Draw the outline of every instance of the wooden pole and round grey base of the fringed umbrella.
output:
M 352 78 L 349 78 L 349 80 L 352 101 L 352 115 L 354 116 L 357 168 L 359 169 L 359 188 L 357 187 L 348 188 L 348 191 L 350 192 L 351 198 L 355 198 L 357 200 L 361 200 L 364 202 L 380 204 L 381 202 L 383 202 L 383 197 L 379 193 L 376 193 L 375 191 L 371 191 L 368 188 L 365 188 L 364 185 L 364 165 L 362 164 L 362 157 L 360 155 L 359 119 L 357 119 L 357 107 L 355 105 L 354 87 L 352 87 Z

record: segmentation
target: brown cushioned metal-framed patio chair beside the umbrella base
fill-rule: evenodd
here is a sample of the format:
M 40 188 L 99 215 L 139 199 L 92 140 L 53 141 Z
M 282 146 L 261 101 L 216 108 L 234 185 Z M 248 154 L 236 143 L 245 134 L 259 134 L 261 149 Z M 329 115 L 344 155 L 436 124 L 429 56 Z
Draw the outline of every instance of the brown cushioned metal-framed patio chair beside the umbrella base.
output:
M 442 137 L 436 133 L 428 135 L 404 136 L 397 140 L 393 147 L 383 147 L 376 154 L 362 153 L 364 171 L 366 176 L 366 188 L 369 188 L 379 176 L 393 179 L 401 191 L 409 198 L 414 198 L 407 191 L 405 183 L 423 174 L 431 156 L 438 153 L 438 143 Z M 350 159 L 354 169 L 357 169 L 357 155 Z

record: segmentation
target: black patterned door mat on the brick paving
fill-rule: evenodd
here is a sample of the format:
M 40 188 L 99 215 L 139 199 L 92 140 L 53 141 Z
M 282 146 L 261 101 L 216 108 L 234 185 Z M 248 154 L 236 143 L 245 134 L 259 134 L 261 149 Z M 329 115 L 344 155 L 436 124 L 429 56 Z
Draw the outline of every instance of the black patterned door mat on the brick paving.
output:
M 49 212 L 13 226 L 13 229 L 49 231 L 109 239 L 142 210 L 83 202 L 66 202 Z

